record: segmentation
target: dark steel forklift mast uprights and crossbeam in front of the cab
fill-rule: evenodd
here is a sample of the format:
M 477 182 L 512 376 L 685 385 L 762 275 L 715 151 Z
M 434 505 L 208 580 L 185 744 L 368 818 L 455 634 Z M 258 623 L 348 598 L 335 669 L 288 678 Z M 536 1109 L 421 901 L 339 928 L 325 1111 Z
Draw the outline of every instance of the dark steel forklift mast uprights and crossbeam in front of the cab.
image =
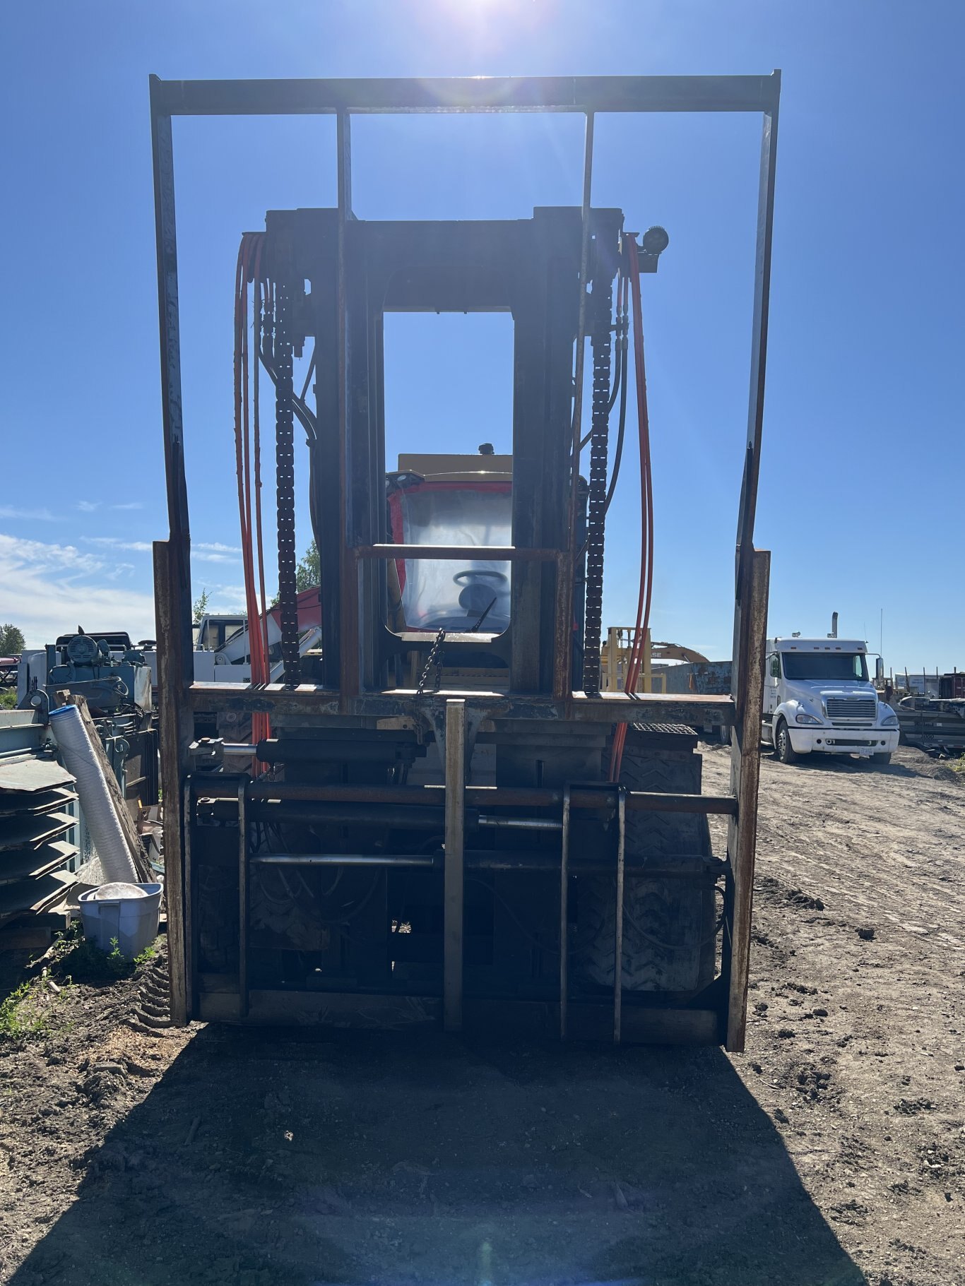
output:
M 296 210 L 271 211 L 265 220 L 265 264 L 278 293 L 287 296 L 291 316 L 284 343 L 296 350 L 309 340 L 315 345 L 318 432 L 310 439 L 310 485 L 324 637 L 318 679 L 346 694 L 395 687 L 398 660 L 425 646 L 423 638 L 399 635 L 386 624 L 386 565 L 394 557 L 386 547 L 396 541 L 385 499 L 385 314 L 506 311 L 515 325 L 512 540 L 506 541 L 512 550 L 501 561 L 512 563 L 513 576 L 508 625 L 498 643 L 489 642 L 508 666 L 512 691 L 564 691 L 574 652 L 565 603 L 573 577 L 561 581 L 560 568 L 574 561 L 567 516 L 580 211 L 543 208 L 533 219 L 489 222 L 349 220 L 341 284 L 349 409 L 344 444 L 336 432 L 337 217 L 337 210 Z M 591 333 L 603 328 L 607 349 L 621 226 L 619 211 L 591 212 L 587 325 Z M 414 549 L 407 552 L 408 558 L 416 556 Z M 457 559 L 458 574 L 466 550 L 430 548 L 418 557 Z M 284 635 L 284 598 L 282 603 Z M 450 657 L 479 647 L 479 637 L 446 639 Z

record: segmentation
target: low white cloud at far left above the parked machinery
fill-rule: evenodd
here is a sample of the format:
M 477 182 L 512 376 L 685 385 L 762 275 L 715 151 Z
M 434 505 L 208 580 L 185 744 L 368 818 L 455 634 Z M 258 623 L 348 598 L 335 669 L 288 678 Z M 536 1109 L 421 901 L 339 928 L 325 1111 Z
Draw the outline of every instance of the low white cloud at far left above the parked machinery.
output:
M 130 563 L 106 562 L 73 545 L 0 534 L 4 620 L 23 630 L 31 648 L 44 647 L 77 625 L 86 630 L 127 630 L 134 639 L 153 638 L 151 581 L 142 581 L 139 589 L 109 584 L 133 570 Z

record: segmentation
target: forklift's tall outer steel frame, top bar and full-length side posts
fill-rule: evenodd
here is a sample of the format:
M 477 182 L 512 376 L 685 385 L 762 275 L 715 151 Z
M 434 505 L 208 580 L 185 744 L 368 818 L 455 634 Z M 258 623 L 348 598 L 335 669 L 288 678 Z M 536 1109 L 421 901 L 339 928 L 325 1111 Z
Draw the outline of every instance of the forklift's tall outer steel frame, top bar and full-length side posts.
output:
M 171 797 L 180 797 L 180 783 L 187 774 L 188 742 L 192 724 L 192 612 L 190 612 L 190 535 L 188 494 L 184 468 L 184 426 L 181 414 L 180 329 L 178 312 L 178 249 L 175 225 L 174 143 L 171 118 L 175 116 L 335 116 L 337 121 L 337 176 L 340 242 L 351 210 L 351 147 L 353 114 L 378 113 L 479 113 L 479 112 L 576 112 L 588 125 L 596 113 L 652 112 L 751 112 L 763 121 L 758 185 L 758 220 L 754 262 L 754 303 L 750 352 L 750 396 L 748 436 L 737 518 L 735 566 L 733 679 L 732 679 L 732 788 L 739 800 L 739 818 L 731 820 L 732 858 L 735 859 L 735 918 L 732 967 L 727 985 L 731 997 L 726 1043 L 728 1048 L 744 1047 L 744 1012 L 746 1008 L 746 968 L 750 936 L 750 880 L 754 864 L 754 822 L 757 801 L 757 746 L 751 756 L 749 739 L 759 729 L 751 728 L 755 705 L 760 702 L 757 669 L 763 666 L 758 633 L 763 629 L 767 603 L 767 554 L 757 554 L 753 545 L 754 517 L 760 468 L 760 444 L 764 409 L 764 374 L 767 361 L 768 306 L 771 289 L 771 249 L 773 237 L 775 166 L 777 158 L 777 120 L 781 73 L 769 76 L 605 76 L 605 77 L 470 77 L 470 78 L 360 78 L 360 80 L 244 80 L 244 81 L 163 81 L 151 77 L 151 129 L 154 172 L 154 213 L 157 235 L 158 309 L 161 333 L 161 391 L 165 439 L 165 477 L 167 487 L 167 541 L 154 543 L 154 579 L 158 616 L 158 642 L 163 639 L 166 655 L 161 656 L 161 719 L 165 729 L 162 775 L 172 783 Z M 340 247 L 340 260 L 341 260 Z M 344 289 L 344 276 L 340 279 Z M 340 311 L 344 316 L 344 297 Z M 340 364 L 345 358 L 345 337 L 340 345 Z M 340 377 L 344 377 L 344 369 Z M 345 441 L 346 409 L 340 415 L 340 437 Z M 346 557 L 346 574 L 358 563 L 355 550 Z M 374 554 L 374 550 L 365 550 Z M 531 556 L 530 556 L 531 557 Z M 573 586 L 567 588 L 571 597 Z M 763 615 L 762 615 L 763 613 Z M 564 617 L 561 608 L 560 616 Z M 306 711 L 335 697 L 331 689 L 302 685 L 286 689 L 279 701 L 296 701 Z M 405 694 L 398 693 L 398 697 Z M 440 694 L 445 696 L 445 694 Z M 573 693 L 555 692 L 548 700 L 547 715 L 558 718 L 561 703 L 569 712 Z M 354 702 L 367 694 L 358 684 L 344 682 L 337 693 L 344 712 L 353 712 Z M 562 701 L 561 701 L 562 698 Z M 239 701 L 235 697 L 235 701 Z M 252 693 L 251 701 L 257 700 Z M 679 703 L 677 697 L 676 702 Z M 593 698 L 583 698 L 584 718 Z M 259 709 L 270 709 L 273 698 L 262 693 Z M 647 694 L 641 701 L 627 697 L 623 702 L 601 705 L 602 719 L 634 721 L 641 718 L 660 720 L 660 694 Z M 695 716 L 700 700 L 694 701 Z M 253 705 L 252 705 L 253 709 Z M 717 712 L 717 711 L 715 711 Z M 176 786 L 174 783 L 178 783 Z M 166 850 L 178 878 L 170 881 L 169 907 L 172 922 L 174 961 L 184 957 L 181 876 L 184 836 L 178 810 L 170 810 L 166 824 Z M 750 814 L 750 815 L 749 815 Z M 741 838 L 744 826 L 749 836 Z M 739 869 L 739 867 L 744 869 Z M 184 1021 L 184 986 L 172 976 L 175 1021 Z

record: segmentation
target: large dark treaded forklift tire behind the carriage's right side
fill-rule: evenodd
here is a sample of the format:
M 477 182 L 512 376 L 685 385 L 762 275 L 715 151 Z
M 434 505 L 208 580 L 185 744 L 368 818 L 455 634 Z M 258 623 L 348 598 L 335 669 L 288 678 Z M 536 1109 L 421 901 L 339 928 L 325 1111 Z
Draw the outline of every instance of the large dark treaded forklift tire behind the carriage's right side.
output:
M 606 751 L 609 760 L 609 748 Z M 660 754 L 633 745 L 623 752 L 620 781 L 628 790 L 700 793 L 701 757 Z M 706 817 L 682 813 L 627 814 L 627 854 L 672 862 L 679 854 L 709 854 Z M 612 989 L 616 882 L 612 876 L 578 877 L 576 963 L 592 986 Z M 692 992 L 714 974 L 714 892 L 686 880 L 645 880 L 627 873 L 623 898 L 623 988 L 627 992 Z

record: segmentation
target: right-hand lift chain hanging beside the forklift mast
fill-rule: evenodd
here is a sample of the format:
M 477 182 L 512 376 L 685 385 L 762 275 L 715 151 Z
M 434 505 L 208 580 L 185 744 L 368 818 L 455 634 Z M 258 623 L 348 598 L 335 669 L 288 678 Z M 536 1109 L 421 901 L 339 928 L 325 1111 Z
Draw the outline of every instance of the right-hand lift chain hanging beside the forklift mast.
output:
M 600 692 L 600 640 L 603 628 L 603 529 L 606 520 L 606 466 L 610 428 L 610 315 L 612 284 L 593 283 L 594 318 L 591 329 L 593 351 L 593 418 L 589 440 L 589 491 L 587 496 L 587 599 L 583 633 L 583 691 Z M 579 395 L 579 390 L 578 390 Z

